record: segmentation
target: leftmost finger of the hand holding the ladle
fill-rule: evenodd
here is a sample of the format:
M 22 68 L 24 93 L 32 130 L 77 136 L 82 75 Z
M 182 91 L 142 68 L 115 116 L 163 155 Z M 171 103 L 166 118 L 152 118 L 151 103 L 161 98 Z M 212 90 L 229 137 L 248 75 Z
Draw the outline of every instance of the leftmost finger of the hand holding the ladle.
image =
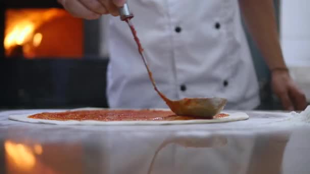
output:
M 79 1 L 63 0 L 62 3 L 64 8 L 75 17 L 81 17 L 85 19 L 97 19 L 100 17 L 100 14 L 90 11 Z

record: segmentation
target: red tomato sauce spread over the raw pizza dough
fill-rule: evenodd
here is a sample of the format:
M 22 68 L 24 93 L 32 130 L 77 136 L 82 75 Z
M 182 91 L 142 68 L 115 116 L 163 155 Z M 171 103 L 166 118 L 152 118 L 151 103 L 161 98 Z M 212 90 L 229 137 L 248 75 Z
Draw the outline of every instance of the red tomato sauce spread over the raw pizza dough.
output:
M 228 117 L 228 114 L 219 113 L 213 119 Z M 43 120 L 94 120 L 94 121 L 175 121 L 175 120 L 206 120 L 208 118 L 188 117 L 175 115 L 172 111 L 164 110 L 80 110 L 66 112 L 43 112 L 30 115 L 31 119 Z

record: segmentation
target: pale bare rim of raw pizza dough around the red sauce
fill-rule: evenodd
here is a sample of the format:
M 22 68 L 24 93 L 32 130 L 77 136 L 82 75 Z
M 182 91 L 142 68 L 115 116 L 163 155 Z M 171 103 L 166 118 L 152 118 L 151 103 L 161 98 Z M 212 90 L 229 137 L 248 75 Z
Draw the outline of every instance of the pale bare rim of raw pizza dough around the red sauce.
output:
M 96 108 L 84 108 L 84 109 L 73 109 L 73 110 L 94 110 Z M 115 110 L 115 109 L 113 109 Z M 167 110 L 167 109 L 157 109 L 157 110 Z M 72 110 L 71 110 L 72 111 Z M 26 123 L 39 123 L 39 124 L 54 124 L 54 125 L 176 125 L 176 124 L 207 124 L 207 123 L 224 123 L 224 122 L 235 122 L 249 119 L 249 116 L 243 112 L 228 113 L 228 117 L 211 119 L 211 120 L 176 120 L 176 121 L 58 121 L 58 120 L 44 120 L 44 119 L 32 119 L 28 116 L 37 114 L 19 114 L 19 115 L 9 115 L 10 120 Z

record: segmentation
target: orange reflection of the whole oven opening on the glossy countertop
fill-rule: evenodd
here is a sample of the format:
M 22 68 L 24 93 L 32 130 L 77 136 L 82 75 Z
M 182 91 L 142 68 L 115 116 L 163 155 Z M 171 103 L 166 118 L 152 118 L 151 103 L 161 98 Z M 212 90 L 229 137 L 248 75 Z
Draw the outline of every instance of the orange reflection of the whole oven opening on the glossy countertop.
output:
M 7 173 L 83 173 L 79 144 L 69 147 L 45 144 L 43 147 L 33 142 L 5 140 Z

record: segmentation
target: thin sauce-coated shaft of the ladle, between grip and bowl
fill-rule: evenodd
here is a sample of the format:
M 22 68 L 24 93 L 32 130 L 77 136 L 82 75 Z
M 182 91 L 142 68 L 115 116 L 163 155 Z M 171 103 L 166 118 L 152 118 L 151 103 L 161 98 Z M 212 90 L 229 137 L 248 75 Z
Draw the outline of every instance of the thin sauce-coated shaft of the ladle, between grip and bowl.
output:
M 148 77 L 149 77 L 149 79 L 151 80 L 152 85 L 154 86 L 154 90 L 155 90 L 155 91 L 159 94 L 159 96 L 167 103 L 167 105 L 168 105 L 169 107 L 172 106 L 172 105 L 173 105 L 173 102 L 172 102 L 170 99 L 168 99 L 163 93 L 161 93 L 161 92 L 158 90 L 157 86 L 156 86 L 155 80 L 153 79 L 153 76 L 152 76 L 152 72 L 151 72 L 151 70 L 149 69 L 149 67 L 148 67 L 148 65 L 147 65 L 147 62 L 146 62 L 146 59 L 145 59 L 145 57 L 144 57 L 144 55 L 143 55 L 144 49 L 143 49 L 143 47 L 142 47 L 142 45 L 141 45 L 140 39 L 139 39 L 138 36 L 137 36 L 137 31 L 136 31 L 136 29 L 135 29 L 135 26 L 132 24 L 130 18 L 125 19 L 125 21 L 127 22 L 128 26 L 130 27 L 130 29 L 131 29 L 131 31 L 132 31 L 132 34 L 133 34 L 134 39 L 135 39 L 135 41 L 136 41 L 136 44 L 137 44 L 137 46 L 138 46 L 139 54 L 141 55 L 141 58 L 142 58 L 142 60 L 143 60 L 143 63 L 144 63 L 144 65 L 145 65 L 145 67 L 146 67 L 146 70 L 147 70 L 147 72 L 148 72 Z

